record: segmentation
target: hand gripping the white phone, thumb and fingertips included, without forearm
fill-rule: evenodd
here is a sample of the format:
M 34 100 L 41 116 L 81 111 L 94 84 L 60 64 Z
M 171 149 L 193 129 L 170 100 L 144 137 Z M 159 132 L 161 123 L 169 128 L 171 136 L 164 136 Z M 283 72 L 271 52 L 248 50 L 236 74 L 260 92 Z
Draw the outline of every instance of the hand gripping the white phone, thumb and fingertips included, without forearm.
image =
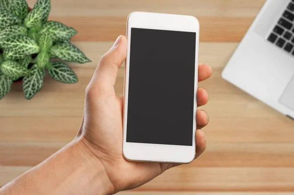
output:
M 86 89 L 84 116 L 77 139 L 82 148 L 91 153 L 94 164 L 103 166 L 111 186 L 108 193 L 139 187 L 164 171 L 178 164 L 129 162 L 123 158 L 123 98 L 114 90 L 118 69 L 127 52 L 126 37 L 120 36 L 114 46 L 101 58 L 94 76 Z M 212 69 L 199 65 L 198 81 L 208 79 Z M 208 102 L 208 94 L 203 88 L 197 89 L 197 105 Z M 196 114 L 196 156 L 206 148 L 201 128 L 208 124 L 205 111 Z

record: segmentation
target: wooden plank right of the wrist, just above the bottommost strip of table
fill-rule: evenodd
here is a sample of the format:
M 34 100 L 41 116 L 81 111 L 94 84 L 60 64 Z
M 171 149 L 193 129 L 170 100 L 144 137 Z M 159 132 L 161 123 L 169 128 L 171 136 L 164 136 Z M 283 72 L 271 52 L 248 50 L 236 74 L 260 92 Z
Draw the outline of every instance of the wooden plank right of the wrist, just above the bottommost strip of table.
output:
M 254 175 L 254 176 L 253 176 Z M 294 168 L 197 168 L 168 170 L 137 191 L 293 192 Z

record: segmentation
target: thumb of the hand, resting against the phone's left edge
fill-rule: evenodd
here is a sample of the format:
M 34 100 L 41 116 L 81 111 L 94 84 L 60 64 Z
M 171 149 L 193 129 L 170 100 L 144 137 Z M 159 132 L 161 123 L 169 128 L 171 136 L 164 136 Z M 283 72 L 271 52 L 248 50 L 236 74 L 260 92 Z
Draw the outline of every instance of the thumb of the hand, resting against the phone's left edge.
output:
M 91 83 L 103 89 L 114 89 L 118 70 L 126 57 L 127 40 L 120 35 L 113 46 L 102 56 Z

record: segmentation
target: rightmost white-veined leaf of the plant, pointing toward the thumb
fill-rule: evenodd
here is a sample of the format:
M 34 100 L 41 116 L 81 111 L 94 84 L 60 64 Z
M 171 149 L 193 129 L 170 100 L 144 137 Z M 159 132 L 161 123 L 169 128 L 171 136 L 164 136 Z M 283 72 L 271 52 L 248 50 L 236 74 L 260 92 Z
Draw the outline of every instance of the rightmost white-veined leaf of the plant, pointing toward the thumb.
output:
M 51 54 L 61 60 L 76 63 L 91 62 L 85 54 L 71 43 L 57 43 L 51 47 Z

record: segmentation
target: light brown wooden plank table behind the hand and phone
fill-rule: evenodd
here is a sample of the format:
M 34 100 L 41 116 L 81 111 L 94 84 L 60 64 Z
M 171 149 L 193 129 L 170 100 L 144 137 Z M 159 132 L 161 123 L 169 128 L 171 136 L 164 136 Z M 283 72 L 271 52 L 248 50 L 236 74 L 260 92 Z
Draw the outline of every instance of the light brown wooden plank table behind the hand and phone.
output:
M 34 1 L 28 0 L 29 5 Z M 210 94 L 203 107 L 210 115 L 204 129 L 208 146 L 192 164 L 121 195 L 293 195 L 294 122 L 221 79 L 223 66 L 264 1 L 51 0 L 50 20 L 76 28 L 79 34 L 73 42 L 93 63 L 72 64 L 79 77 L 75 85 L 46 77 L 32 100 L 25 100 L 21 84 L 16 84 L 0 101 L 0 186 L 73 139 L 81 123 L 84 91 L 100 57 L 125 34 L 130 12 L 151 11 L 199 19 L 200 62 L 214 71 L 200 84 Z M 123 93 L 123 67 L 116 89 L 118 95 Z

